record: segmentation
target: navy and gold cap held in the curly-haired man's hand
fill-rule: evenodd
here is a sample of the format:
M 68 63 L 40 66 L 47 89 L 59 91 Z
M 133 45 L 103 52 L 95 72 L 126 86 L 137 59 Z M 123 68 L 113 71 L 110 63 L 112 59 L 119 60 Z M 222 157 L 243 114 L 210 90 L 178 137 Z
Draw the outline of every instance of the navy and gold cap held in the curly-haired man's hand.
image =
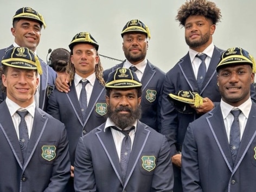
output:
M 195 107 L 203 104 L 203 98 L 197 92 L 182 90 L 175 94 L 168 94 L 167 98 L 174 108 L 181 113 L 194 113 L 195 110 L 190 107 L 190 104 L 195 105 Z

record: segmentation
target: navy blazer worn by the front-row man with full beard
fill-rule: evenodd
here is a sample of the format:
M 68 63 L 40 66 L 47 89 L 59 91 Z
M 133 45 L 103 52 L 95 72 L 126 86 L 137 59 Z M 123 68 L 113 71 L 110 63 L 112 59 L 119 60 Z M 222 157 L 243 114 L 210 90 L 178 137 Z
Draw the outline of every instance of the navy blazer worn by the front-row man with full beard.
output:
M 104 127 L 100 125 L 79 140 L 75 153 L 76 191 L 172 191 L 174 177 L 165 136 L 138 121 L 123 183 L 111 129 L 104 131 Z M 152 160 L 150 170 L 143 165 L 146 157 Z

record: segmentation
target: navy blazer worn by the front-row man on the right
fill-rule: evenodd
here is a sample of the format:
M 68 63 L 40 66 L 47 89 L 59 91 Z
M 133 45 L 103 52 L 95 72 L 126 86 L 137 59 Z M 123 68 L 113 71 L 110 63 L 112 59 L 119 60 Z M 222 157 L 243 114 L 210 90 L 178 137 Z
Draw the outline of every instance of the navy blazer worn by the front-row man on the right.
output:
M 253 103 L 234 163 L 221 107 L 189 124 L 182 149 L 182 185 L 193 192 L 254 192 L 256 105 Z

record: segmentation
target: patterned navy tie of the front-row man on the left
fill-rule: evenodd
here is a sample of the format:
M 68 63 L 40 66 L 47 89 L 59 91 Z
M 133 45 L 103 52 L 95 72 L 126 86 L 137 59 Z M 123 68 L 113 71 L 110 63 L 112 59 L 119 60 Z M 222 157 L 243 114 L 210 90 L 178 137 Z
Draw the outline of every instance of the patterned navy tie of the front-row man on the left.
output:
M 21 117 L 21 122 L 18 125 L 18 132 L 20 136 L 20 146 L 23 160 L 25 159 L 25 153 L 28 147 L 29 136 L 28 136 L 28 127 L 25 121 L 25 116 L 27 116 L 28 111 L 16 111 L 16 113 Z

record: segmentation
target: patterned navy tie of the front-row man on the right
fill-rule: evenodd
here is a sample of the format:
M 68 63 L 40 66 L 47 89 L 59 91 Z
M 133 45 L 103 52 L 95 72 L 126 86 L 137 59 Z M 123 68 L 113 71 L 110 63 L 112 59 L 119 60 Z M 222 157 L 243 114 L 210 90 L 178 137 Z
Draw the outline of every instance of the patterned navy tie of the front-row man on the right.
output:
M 233 163 L 235 163 L 236 155 L 238 154 L 238 148 L 240 144 L 240 126 L 239 126 L 239 115 L 241 110 L 231 111 L 234 116 L 233 123 L 231 125 L 230 135 L 229 135 L 229 148 L 231 151 L 231 156 Z

